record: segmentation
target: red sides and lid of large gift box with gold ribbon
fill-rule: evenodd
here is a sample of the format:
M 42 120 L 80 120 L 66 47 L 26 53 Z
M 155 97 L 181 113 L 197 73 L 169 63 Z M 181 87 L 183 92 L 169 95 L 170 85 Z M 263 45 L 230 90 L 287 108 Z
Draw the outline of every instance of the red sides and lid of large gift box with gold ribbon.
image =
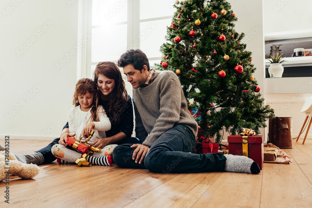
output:
M 247 138 L 248 157 L 258 163 L 260 170 L 263 168 L 263 136 L 244 136 Z M 227 137 L 229 154 L 243 155 L 243 136 L 232 135 Z

